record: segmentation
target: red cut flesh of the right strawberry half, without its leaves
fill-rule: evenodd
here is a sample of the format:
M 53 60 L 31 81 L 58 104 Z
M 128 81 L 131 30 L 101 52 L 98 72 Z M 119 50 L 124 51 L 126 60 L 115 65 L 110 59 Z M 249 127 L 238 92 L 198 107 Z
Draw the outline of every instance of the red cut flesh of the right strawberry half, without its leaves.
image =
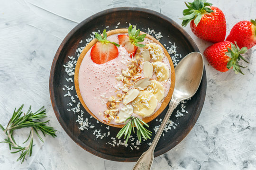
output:
M 126 51 L 130 54 L 130 57 L 133 58 L 133 56 L 136 54 L 138 47 L 133 45 L 130 42 L 130 38 L 128 37 L 128 35 L 125 35 L 125 34 L 118 35 L 118 39 L 119 39 L 119 44 L 123 46 L 126 49 Z

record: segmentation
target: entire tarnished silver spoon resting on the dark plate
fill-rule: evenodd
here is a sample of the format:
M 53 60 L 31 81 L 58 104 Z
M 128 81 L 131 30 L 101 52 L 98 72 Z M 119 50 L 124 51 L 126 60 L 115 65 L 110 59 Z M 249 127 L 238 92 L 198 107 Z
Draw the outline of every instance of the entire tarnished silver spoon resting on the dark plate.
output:
M 150 170 L 154 160 L 155 146 L 174 109 L 179 102 L 191 98 L 197 91 L 203 74 L 203 57 L 199 52 L 186 55 L 175 67 L 175 88 L 169 109 L 148 150 L 140 156 L 133 170 Z

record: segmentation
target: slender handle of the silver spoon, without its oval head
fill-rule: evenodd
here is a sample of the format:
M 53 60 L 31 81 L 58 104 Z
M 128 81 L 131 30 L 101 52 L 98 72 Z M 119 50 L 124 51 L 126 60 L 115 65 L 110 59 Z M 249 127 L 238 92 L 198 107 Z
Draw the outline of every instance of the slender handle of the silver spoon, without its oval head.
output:
M 150 147 L 148 148 L 148 150 L 146 152 L 142 153 L 142 155 L 140 156 L 140 158 L 138 159 L 137 163 L 135 164 L 135 166 L 133 167 L 132 170 L 150 170 L 151 165 L 154 160 L 155 146 L 156 146 L 158 140 L 160 139 L 160 137 L 162 136 L 165 125 L 168 122 L 170 116 L 172 115 L 174 109 L 179 104 L 179 102 L 180 101 L 177 98 L 172 98 L 172 100 L 169 104 L 169 109 L 167 110 L 167 113 L 165 114 L 165 118 L 164 118 L 161 126 L 159 127 L 152 144 L 150 145 Z

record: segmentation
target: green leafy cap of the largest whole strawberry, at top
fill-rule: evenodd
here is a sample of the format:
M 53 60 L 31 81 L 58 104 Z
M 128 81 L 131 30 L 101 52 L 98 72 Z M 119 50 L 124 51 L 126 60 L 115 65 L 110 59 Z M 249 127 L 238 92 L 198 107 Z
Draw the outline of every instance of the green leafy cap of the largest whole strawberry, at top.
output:
M 197 26 L 201 21 L 201 15 L 205 12 L 211 13 L 214 12 L 212 9 L 208 8 L 211 6 L 211 3 L 206 2 L 206 0 L 195 0 L 193 2 L 185 2 L 188 9 L 183 10 L 183 20 L 182 26 L 187 26 L 188 23 L 194 19 L 194 23 Z

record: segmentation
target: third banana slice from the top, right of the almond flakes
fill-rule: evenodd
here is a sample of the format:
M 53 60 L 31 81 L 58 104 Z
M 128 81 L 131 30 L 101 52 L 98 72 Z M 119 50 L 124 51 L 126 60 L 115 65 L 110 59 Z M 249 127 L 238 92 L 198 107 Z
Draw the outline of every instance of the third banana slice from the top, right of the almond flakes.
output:
M 152 80 L 151 84 L 147 86 L 145 91 L 151 92 L 155 95 L 158 102 L 165 97 L 165 87 L 156 80 Z

